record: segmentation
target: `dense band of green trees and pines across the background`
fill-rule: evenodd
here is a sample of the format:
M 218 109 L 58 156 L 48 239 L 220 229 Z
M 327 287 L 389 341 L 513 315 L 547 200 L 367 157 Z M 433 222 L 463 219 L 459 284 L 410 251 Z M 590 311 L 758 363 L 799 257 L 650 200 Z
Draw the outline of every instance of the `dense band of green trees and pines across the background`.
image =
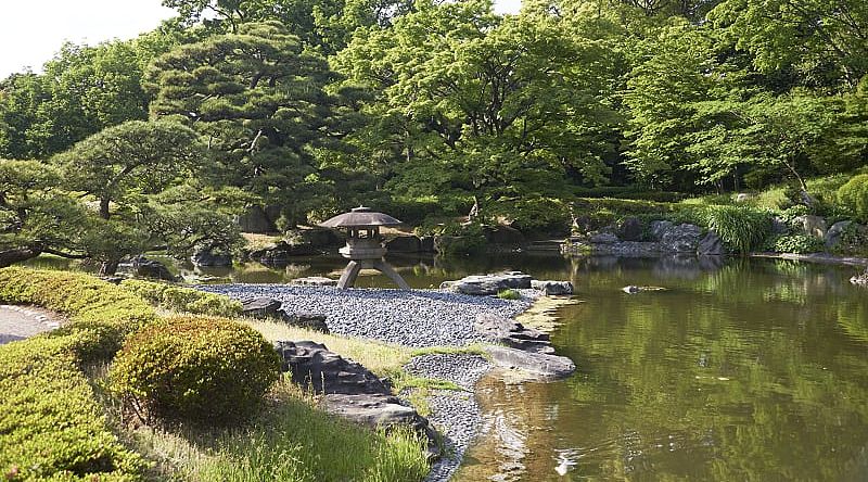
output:
M 556 231 L 597 191 L 789 182 L 859 213 L 805 192 L 868 161 L 860 0 L 164 4 L 154 31 L 0 81 L 0 157 L 33 160 L 0 166 L 0 264 L 231 249 L 245 206 Z

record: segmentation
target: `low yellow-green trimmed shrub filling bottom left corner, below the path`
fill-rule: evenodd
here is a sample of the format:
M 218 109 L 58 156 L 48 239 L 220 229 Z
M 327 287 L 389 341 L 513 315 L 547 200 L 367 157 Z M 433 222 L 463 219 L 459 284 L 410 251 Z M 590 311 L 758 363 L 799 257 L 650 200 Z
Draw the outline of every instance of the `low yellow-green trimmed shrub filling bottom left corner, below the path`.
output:
M 145 462 L 108 429 L 71 337 L 0 346 L 0 477 L 138 481 Z

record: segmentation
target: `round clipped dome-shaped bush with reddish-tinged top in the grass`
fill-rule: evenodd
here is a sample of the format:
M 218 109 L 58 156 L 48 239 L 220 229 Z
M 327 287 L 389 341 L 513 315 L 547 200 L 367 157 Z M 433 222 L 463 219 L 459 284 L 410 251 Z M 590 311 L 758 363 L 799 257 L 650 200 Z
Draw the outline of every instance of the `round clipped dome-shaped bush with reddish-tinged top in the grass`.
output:
M 252 328 L 178 317 L 128 338 L 111 380 L 140 415 L 225 424 L 252 415 L 279 375 L 280 357 Z

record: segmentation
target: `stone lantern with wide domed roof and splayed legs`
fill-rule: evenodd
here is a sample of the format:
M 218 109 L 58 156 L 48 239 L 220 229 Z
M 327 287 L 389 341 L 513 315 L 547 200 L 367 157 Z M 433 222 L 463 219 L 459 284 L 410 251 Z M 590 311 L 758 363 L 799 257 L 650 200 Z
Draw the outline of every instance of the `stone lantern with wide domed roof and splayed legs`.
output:
M 345 228 L 347 230 L 346 245 L 341 248 L 340 253 L 349 259 L 337 288 L 353 288 L 359 271 L 363 269 L 376 269 L 390 277 L 398 288 L 409 290 L 410 287 L 404 281 L 395 269 L 390 266 L 383 256 L 386 249 L 383 246 L 383 238 L 380 236 L 381 226 L 398 226 L 403 223 L 394 217 L 371 211 L 369 207 L 359 206 L 349 213 L 340 214 L 320 224 L 323 228 Z

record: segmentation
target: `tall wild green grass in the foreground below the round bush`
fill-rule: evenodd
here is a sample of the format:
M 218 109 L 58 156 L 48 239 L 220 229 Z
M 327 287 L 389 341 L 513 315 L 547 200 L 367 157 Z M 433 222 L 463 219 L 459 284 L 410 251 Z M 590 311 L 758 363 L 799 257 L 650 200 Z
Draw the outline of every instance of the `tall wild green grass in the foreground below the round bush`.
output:
M 429 471 L 426 441 L 416 433 L 372 432 L 330 416 L 286 379 L 246 427 L 141 427 L 127 437 L 157 460 L 157 480 L 386 482 L 422 480 Z

